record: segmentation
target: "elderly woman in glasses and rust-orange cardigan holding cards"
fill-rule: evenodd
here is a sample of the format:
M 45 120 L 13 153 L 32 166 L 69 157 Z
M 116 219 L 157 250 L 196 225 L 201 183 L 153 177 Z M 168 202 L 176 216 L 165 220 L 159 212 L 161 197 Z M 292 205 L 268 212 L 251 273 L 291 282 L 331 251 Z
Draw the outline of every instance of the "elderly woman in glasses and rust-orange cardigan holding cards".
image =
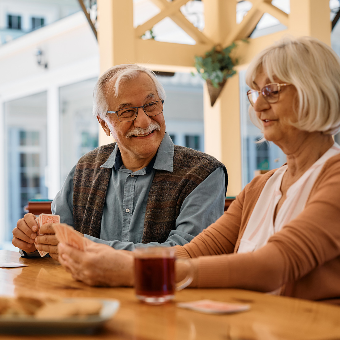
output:
M 194 287 L 234 287 L 311 300 L 340 297 L 340 61 L 317 39 L 286 39 L 246 73 L 253 121 L 287 155 L 254 178 L 216 223 L 176 246 Z M 60 262 L 91 285 L 133 285 L 133 256 L 59 245 Z M 94 265 L 96 264 L 96 265 Z M 98 266 L 98 264 L 100 264 Z M 177 276 L 187 267 L 177 267 Z

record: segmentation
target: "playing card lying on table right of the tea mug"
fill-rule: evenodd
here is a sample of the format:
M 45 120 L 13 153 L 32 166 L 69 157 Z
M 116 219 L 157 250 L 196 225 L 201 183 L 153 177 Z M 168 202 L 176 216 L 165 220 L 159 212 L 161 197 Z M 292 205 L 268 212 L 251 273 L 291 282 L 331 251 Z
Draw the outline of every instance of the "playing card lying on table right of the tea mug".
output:
M 227 303 L 212 300 L 199 300 L 185 303 L 177 303 L 178 307 L 196 310 L 202 313 L 229 314 L 243 312 L 250 309 L 250 305 L 240 303 Z

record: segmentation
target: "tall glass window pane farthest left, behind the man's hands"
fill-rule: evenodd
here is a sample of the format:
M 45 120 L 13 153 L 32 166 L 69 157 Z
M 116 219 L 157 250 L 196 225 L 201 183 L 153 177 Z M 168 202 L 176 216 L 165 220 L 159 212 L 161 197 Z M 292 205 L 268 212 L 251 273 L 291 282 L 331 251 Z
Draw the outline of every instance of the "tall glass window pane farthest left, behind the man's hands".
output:
M 6 233 L 25 214 L 23 207 L 31 199 L 46 199 L 47 94 L 42 92 L 4 104 L 6 133 Z

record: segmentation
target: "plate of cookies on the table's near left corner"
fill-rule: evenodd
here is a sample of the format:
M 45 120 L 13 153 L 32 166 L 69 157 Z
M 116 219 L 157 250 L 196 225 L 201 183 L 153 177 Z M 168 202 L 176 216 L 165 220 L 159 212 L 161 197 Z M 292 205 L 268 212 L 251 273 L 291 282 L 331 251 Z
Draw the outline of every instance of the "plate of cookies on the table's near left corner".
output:
M 90 297 L 0 296 L 0 334 L 92 334 L 119 305 Z

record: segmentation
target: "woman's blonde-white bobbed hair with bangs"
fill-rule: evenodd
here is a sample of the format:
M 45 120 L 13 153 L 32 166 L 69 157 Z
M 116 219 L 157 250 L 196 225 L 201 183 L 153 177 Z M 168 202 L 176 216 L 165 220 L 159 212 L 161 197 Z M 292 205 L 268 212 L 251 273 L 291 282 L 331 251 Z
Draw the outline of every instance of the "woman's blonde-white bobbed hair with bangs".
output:
M 260 52 L 250 63 L 245 81 L 255 88 L 254 80 L 263 71 L 271 82 L 276 76 L 297 90 L 296 122 L 304 131 L 336 134 L 340 130 L 340 59 L 336 53 L 312 37 L 283 38 Z M 253 123 L 263 125 L 249 109 Z

